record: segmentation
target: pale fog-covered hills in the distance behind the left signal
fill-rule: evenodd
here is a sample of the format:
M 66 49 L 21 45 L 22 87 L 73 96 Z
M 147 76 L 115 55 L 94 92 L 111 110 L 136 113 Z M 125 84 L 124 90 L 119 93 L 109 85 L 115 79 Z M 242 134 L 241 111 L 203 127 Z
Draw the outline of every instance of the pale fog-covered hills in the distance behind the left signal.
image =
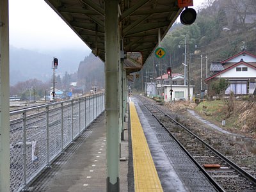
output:
M 28 49 L 10 46 L 10 84 L 28 79 L 40 79 L 51 81 L 52 60 L 58 58 L 59 65 L 56 74 L 64 76 L 67 71 L 69 74 L 77 71 L 80 61 L 84 60 L 90 52 L 77 50 L 60 50 L 52 53 L 40 53 Z

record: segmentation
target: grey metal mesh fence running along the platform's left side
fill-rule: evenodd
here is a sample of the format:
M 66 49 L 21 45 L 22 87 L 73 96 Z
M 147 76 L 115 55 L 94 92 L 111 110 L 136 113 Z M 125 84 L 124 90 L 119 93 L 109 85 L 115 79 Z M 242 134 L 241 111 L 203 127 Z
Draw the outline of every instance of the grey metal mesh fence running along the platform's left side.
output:
M 104 108 L 99 93 L 10 112 L 10 191 L 26 189 Z

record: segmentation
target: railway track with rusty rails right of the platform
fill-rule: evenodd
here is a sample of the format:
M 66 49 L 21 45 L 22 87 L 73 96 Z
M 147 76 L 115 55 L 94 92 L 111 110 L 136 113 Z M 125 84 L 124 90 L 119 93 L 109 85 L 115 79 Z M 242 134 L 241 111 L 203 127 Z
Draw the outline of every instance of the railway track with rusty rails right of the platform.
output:
M 219 191 L 256 191 L 256 178 L 252 175 L 253 170 L 230 161 L 228 157 L 223 156 L 202 138 L 177 122 L 175 116 L 159 108 L 159 105 L 152 104 L 140 96 L 138 99 L 177 141 L 216 189 Z

